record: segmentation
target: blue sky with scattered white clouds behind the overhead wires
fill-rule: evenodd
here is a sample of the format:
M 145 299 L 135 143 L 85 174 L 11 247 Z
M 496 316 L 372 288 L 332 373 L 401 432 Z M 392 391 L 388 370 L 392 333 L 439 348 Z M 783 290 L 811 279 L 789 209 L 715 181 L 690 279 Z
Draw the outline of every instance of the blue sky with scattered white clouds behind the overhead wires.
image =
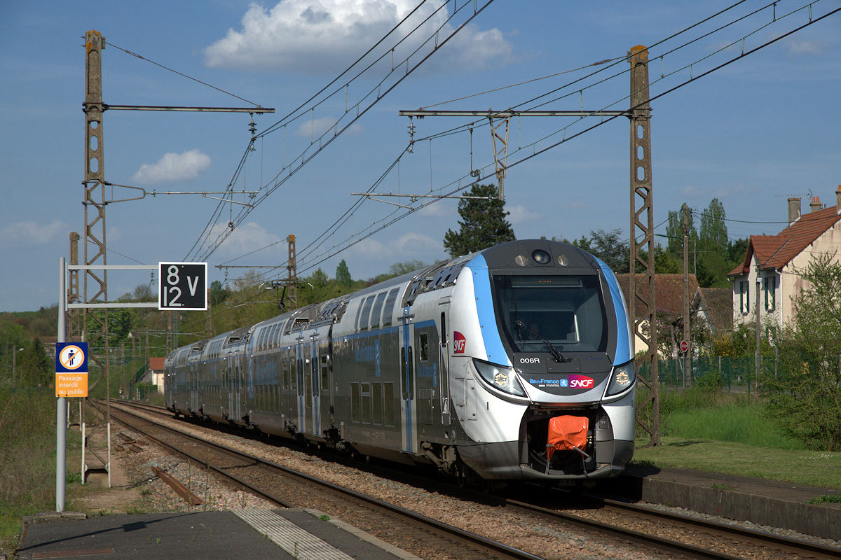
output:
M 458 181 L 467 184 L 471 169 L 485 175 L 493 166 L 487 119 L 415 119 L 418 141 L 409 154 L 409 120 L 400 117 L 399 110 L 433 105 L 465 110 L 625 108 L 627 72 L 595 82 L 625 71 L 627 63 L 621 57 L 630 47 L 659 43 L 731 3 L 496 0 L 352 123 L 354 103 L 362 100 L 362 107 L 368 107 L 372 97 L 366 93 L 374 92 L 375 97 L 379 81 L 385 79 L 389 86 L 401 75 L 398 70 L 386 77 L 391 65 L 405 68 L 400 66 L 405 55 L 418 49 L 410 57 L 410 66 L 415 65 L 429 52 L 423 41 L 434 41 L 439 26 L 440 41 L 466 23 L 473 3 L 425 4 L 373 50 L 373 55 L 384 55 L 383 60 L 346 88 L 341 86 L 348 76 L 336 82 L 328 90 L 336 95 L 322 96 L 317 105 L 306 101 L 398 24 L 415 8 L 415 0 L 3 3 L 0 255 L 6 266 L 0 273 L 0 311 L 56 303 L 58 259 L 69 252 L 68 234 L 83 232 L 82 36 L 88 29 L 98 30 L 109 43 L 103 50 L 106 103 L 249 106 L 128 55 L 121 47 L 263 107 L 275 107 L 274 114 L 255 116 L 258 133 L 303 104 L 302 118 L 281 122 L 274 132 L 257 139 L 248 154 L 234 189 L 260 192 L 259 203 L 249 212 L 243 213 L 241 205 L 218 207 L 217 201 L 193 195 L 109 204 L 108 264 L 202 257 L 209 262 L 210 280 L 225 280 L 215 265 L 285 264 L 285 238 L 294 233 L 300 275 L 308 275 L 313 269 L 306 269 L 314 266 L 335 275 L 336 264 L 345 259 L 354 278 L 368 278 L 395 262 L 444 258 L 443 235 L 447 228 L 458 227 L 457 201 L 438 201 L 412 212 L 327 258 L 344 247 L 346 239 L 357 240 L 372 224 L 403 212 L 365 201 L 341 228 L 307 249 L 357 201 L 351 192 L 367 191 L 375 183 L 380 193 L 451 191 Z M 784 1 L 701 38 L 765 5 L 742 3 L 653 47 L 652 95 L 737 57 L 743 37 L 748 51 L 809 21 L 808 9 L 783 17 L 806 5 Z M 811 17 L 838 6 L 817 2 Z M 436 8 L 440 9 L 433 14 Z M 420 15 L 431 16 L 430 21 L 407 34 L 420 23 Z M 444 19 L 451 16 L 446 24 Z M 404 36 L 392 62 L 390 49 Z M 666 54 L 693 39 L 697 40 Z M 736 44 L 727 47 L 731 43 Z M 841 184 L 839 55 L 841 13 L 836 13 L 655 100 L 655 223 L 684 201 L 700 212 L 717 197 L 733 220 L 727 223 L 728 233 L 740 238 L 783 228 L 788 196 L 801 196 L 804 211 L 810 193 L 833 206 L 834 191 Z M 616 65 L 592 66 L 601 60 L 614 60 Z M 582 67 L 586 68 L 575 70 Z M 597 70 L 602 72 L 567 86 Z M 512 86 L 521 82 L 526 83 Z M 529 103 L 531 99 L 540 101 Z M 442 102 L 448 103 L 438 105 Z M 472 141 L 466 128 L 471 120 Z M 225 190 L 246 153 L 248 122 L 249 116 L 242 113 L 106 112 L 106 180 L 150 192 Z M 598 122 L 599 118 L 512 119 L 508 163 Z M 330 139 L 331 131 L 345 124 L 350 126 L 294 175 L 279 185 L 272 180 L 288 175 L 296 157 L 312 155 L 320 133 Z M 450 129 L 452 134 L 428 139 Z M 627 119 L 617 118 L 511 165 L 505 196 L 517 237 L 578 238 L 591 230 L 616 228 L 627 236 L 628 138 Z M 119 188 L 108 195 L 134 196 Z M 399 202 L 413 206 L 409 199 Z M 214 248 L 211 241 L 229 221 L 235 222 L 235 229 Z M 202 236 L 206 227 L 209 239 Z M 664 233 L 664 226 L 658 233 Z M 230 270 L 228 278 L 242 272 Z M 116 299 L 149 280 L 148 273 L 111 274 L 109 296 Z

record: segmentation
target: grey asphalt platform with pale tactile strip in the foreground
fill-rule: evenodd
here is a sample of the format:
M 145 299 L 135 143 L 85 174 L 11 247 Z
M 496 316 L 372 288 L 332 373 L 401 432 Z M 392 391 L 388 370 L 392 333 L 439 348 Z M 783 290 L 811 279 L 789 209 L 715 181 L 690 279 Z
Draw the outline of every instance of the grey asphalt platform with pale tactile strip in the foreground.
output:
M 24 518 L 19 560 L 41 558 L 418 560 L 316 510 L 230 510 Z

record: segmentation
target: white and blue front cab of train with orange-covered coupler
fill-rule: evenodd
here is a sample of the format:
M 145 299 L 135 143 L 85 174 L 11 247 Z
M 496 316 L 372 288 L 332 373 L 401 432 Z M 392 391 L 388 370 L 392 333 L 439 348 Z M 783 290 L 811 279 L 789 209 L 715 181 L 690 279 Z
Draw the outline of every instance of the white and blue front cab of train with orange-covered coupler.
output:
M 486 479 L 619 474 L 633 453 L 636 375 L 611 270 L 548 241 L 489 249 L 468 270 L 458 290 L 472 297 L 458 301 L 475 301 L 477 321 L 464 309 L 453 319 L 464 331 L 454 337 L 465 340 L 454 370 L 471 385 L 460 415 L 465 463 Z

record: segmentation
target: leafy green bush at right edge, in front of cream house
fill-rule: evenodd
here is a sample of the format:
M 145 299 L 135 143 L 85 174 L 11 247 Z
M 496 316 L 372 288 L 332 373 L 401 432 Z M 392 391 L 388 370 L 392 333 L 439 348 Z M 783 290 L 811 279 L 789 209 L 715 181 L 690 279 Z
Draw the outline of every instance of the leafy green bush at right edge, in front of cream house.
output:
M 797 271 L 810 287 L 795 297 L 777 371 L 767 367 L 762 383 L 786 432 L 809 447 L 841 451 L 841 264 L 834 257 L 817 255 Z

